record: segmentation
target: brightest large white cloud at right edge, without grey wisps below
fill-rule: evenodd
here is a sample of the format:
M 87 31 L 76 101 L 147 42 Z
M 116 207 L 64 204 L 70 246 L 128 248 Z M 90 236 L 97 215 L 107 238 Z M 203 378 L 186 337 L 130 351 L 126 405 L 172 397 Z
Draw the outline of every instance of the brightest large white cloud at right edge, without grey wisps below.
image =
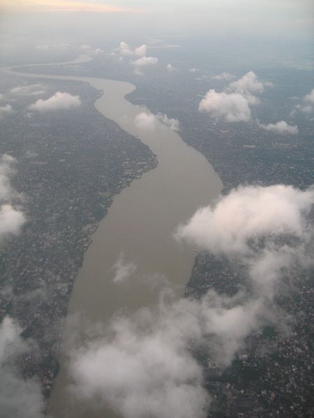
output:
M 251 255 L 260 238 L 306 235 L 305 215 L 314 203 L 314 189 L 292 186 L 238 187 L 221 196 L 215 206 L 197 210 L 177 237 L 213 254 Z

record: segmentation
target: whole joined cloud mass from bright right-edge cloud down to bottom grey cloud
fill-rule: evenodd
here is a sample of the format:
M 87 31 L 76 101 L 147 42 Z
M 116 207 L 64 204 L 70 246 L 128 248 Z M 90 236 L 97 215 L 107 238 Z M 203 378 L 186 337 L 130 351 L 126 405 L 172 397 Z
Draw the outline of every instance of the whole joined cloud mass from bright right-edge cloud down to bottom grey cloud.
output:
M 202 349 L 223 368 L 251 332 L 283 323 L 274 308 L 281 292 L 276 284 L 312 254 L 306 246 L 313 245 L 313 204 L 313 189 L 276 185 L 239 187 L 198 210 L 179 226 L 177 238 L 239 257 L 247 286 L 233 296 L 210 290 L 200 300 L 177 300 L 164 288 L 156 308 L 115 316 L 103 332 L 70 350 L 70 393 L 124 418 L 207 417 L 211 398 L 193 353 Z

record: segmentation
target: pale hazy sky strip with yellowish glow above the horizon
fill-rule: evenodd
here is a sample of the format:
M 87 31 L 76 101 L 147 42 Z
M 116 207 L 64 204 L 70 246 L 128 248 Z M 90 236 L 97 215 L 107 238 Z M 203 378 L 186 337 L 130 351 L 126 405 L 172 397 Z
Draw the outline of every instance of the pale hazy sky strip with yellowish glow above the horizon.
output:
M 143 27 L 152 24 L 172 31 L 177 28 L 181 33 L 273 33 L 284 38 L 313 35 L 314 22 L 311 0 L 1 0 L 0 10 L 4 21 L 13 19 L 12 14 L 25 22 L 30 13 L 57 13 L 51 15 L 54 20 L 60 13 L 84 12 L 117 20 L 127 15 L 124 26 L 140 22 Z

